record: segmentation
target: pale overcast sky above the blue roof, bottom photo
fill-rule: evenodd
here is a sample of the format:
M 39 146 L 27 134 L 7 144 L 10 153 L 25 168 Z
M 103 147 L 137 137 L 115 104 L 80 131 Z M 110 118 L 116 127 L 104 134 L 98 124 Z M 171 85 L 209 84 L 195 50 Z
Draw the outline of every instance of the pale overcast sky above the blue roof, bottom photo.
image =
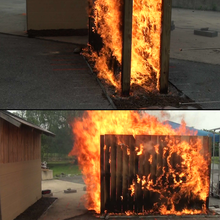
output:
M 220 111 L 146 111 L 156 115 L 160 120 L 167 119 L 180 123 L 185 120 L 186 125 L 197 129 L 220 128 Z M 164 116 L 165 115 L 165 116 Z M 163 117 L 162 117 L 163 116 Z

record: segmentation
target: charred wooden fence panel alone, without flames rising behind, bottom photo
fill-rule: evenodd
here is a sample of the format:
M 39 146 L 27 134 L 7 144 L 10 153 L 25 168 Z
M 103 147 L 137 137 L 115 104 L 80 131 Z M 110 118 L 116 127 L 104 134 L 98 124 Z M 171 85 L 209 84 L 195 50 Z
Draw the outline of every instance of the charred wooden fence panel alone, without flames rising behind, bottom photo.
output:
M 101 136 L 101 213 L 206 213 L 209 137 Z

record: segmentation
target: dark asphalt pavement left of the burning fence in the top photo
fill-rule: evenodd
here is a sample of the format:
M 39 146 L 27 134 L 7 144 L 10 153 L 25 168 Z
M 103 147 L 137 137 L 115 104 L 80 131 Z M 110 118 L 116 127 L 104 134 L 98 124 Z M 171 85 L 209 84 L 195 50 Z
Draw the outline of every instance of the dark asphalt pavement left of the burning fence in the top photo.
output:
M 111 109 L 75 47 L 0 34 L 0 108 Z

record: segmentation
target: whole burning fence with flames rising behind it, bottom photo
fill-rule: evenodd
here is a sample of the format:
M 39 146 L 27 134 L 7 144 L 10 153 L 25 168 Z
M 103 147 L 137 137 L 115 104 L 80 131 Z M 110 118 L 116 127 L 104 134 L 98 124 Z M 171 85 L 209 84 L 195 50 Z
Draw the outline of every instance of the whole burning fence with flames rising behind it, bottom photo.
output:
M 87 111 L 72 127 L 70 155 L 78 157 L 89 210 L 206 212 L 209 140 L 194 137 L 184 122 L 174 130 L 145 112 Z M 114 135 L 101 136 L 100 141 L 104 134 Z

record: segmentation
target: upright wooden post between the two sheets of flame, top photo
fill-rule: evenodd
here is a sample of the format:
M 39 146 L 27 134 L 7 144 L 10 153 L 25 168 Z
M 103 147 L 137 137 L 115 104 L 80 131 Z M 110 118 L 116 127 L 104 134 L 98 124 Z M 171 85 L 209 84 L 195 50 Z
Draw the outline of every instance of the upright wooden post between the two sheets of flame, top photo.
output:
M 131 47 L 132 47 L 132 14 L 133 0 L 124 0 L 123 45 L 122 45 L 122 95 L 128 96 L 131 81 Z

